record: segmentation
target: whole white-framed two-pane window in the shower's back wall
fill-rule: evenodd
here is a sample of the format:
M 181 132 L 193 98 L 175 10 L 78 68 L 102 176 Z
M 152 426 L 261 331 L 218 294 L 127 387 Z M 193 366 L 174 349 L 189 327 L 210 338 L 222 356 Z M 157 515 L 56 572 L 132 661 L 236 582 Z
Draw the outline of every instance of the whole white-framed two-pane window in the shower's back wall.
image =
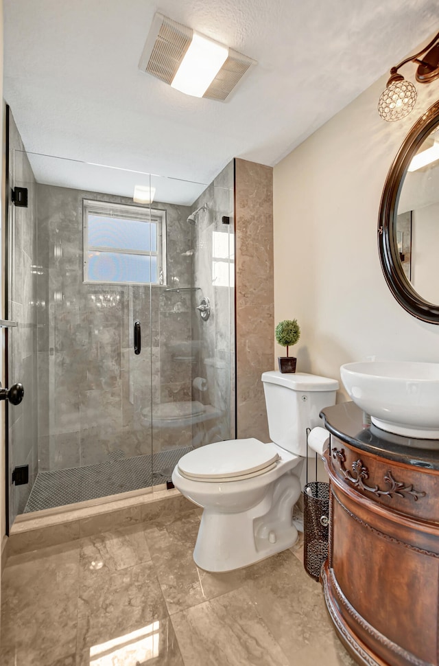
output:
M 165 284 L 166 211 L 84 199 L 84 282 Z

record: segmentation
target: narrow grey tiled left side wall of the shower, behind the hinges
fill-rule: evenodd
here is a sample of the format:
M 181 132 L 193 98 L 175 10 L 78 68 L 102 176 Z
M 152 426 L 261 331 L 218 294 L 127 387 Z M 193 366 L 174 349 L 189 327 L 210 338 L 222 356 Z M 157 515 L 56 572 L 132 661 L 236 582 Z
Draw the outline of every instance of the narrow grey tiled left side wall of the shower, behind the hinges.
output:
M 9 383 L 21 382 L 25 389 L 23 402 L 8 405 L 9 474 L 15 466 L 29 466 L 29 483 L 10 485 L 10 523 L 23 512 L 38 467 L 37 440 L 37 355 L 36 355 L 36 182 L 23 141 L 12 113 L 9 120 L 8 225 L 11 262 L 8 275 L 8 317 L 18 322 L 8 330 Z M 11 188 L 27 187 L 29 205 L 16 207 Z

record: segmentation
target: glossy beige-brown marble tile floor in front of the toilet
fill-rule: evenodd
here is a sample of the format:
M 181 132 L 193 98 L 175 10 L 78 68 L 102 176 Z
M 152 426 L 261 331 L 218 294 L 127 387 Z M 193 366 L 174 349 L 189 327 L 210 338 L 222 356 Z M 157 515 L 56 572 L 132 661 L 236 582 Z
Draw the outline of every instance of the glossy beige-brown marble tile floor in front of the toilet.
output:
M 354 666 L 300 544 L 246 569 L 195 566 L 200 510 L 8 560 L 1 666 Z

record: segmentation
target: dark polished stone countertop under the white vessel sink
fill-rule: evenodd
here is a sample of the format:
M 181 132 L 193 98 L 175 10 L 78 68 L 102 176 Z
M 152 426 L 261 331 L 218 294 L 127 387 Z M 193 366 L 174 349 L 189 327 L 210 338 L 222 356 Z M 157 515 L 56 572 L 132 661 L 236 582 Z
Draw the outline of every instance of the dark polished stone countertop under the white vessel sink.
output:
M 325 407 L 320 412 L 331 435 L 374 455 L 429 470 L 439 470 L 439 439 L 392 435 L 366 424 L 364 412 L 354 402 Z

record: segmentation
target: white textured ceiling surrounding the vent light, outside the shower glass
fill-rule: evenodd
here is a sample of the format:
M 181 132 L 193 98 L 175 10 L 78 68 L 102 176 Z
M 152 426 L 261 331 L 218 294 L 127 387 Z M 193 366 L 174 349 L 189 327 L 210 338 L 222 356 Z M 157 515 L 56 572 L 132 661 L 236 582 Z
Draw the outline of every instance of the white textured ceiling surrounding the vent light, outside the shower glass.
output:
M 233 157 L 276 164 L 439 28 L 437 0 L 3 5 L 4 95 L 28 151 L 199 183 Z M 228 102 L 139 71 L 156 11 L 258 61 Z

